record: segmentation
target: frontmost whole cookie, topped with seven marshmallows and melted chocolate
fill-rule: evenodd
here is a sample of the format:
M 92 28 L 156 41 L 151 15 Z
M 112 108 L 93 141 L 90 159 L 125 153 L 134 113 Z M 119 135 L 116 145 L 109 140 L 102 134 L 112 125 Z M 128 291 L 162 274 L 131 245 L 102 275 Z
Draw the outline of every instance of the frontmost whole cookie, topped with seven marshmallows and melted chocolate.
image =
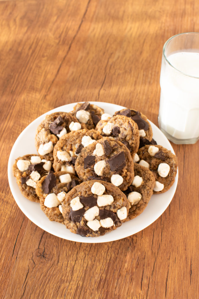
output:
M 125 194 L 118 187 L 98 180 L 75 186 L 62 205 L 64 224 L 82 237 L 98 237 L 115 230 L 128 212 Z

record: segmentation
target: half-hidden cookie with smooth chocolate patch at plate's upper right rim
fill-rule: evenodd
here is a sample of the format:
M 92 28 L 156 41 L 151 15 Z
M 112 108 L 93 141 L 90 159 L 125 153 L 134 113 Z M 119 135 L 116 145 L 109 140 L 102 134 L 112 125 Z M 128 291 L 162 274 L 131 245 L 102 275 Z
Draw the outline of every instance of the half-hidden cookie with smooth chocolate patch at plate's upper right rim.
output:
M 121 109 L 115 112 L 115 115 L 125 115 L 135 121 L 138 125 L 139 135 L 151 141 L 153 132 L 147 117 L 134 109 Z

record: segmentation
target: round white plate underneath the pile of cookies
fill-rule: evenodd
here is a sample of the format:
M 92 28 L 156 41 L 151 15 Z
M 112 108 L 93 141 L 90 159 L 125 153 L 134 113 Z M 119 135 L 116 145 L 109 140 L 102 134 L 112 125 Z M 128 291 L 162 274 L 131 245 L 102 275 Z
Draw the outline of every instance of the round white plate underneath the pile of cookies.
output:
M 114 105 L 110 103 L 103 103 L 103 102 L 90 102 L 91 104 L 97 104 L 99 107 L 104 108 L 104 112 L 113 115 L 115 111 L 121 110 L 125 107 Z M 37 126 L 41 123 L 44 119 L 45 115 L 64 111 L 70 112 L 73 110 L 73 106 L 76 103 L 64 105 L 58 108 L 55 108 L 30 123 L 23 132 L 18 136 L 17 140 L 15 141 L 13 148 L 10 152 L 10 157 L 8 161 L 8 181 L 10 184 L 10 189 L 13 194 L 14 199 L 16 200 L 17 205 L 22 210 L 22 212 L 36 225 L 38 225 L 43 230 L 53 234 L 57 237 L 67 239 L 70 241 L 76 242 L 84 242 L 84 243 L 101 243 L 101 242 L 110 242 L 115 241 L 118 239 L 122 239 L 128 236 L 131 236 L 138 231 L 143 230 L 148 225 L 152 224 L 161 214 L 166 210 L 169 203 L 171 202 L 176 187 L 178 183 L 178 173 L 175 178 L 175 183 L 173 186 L 165 193 L 152 195 L 149 204 L 147 205 L 146 209 L 136 217 L 128 222 L 125 222 L 121 225 L 121 227 L 117 228 L 115 231 L 109 232 L 104 236 L 100 237 L 81 237 L 80 235 L 71 233 L 65 226 L 61 223 L 50 221 L 45 215 L 44 212 L 41 210 L 39 203 L 31 202 L 22 196 L 18 185 L 16 183 L 16 179 L 12 174 L 12 165 L 15 162 L 15 159 L 26 155 L 26 154 L 37 154 L 35 148 L 35 132 Z M 151 121 L 151 126 L 153 130 L 153 138 L 157 142 L 157 144 L 170 149 L 173 153 L 174 150 L 169 143 L 168 139 L 165 135 L 155 126 Z

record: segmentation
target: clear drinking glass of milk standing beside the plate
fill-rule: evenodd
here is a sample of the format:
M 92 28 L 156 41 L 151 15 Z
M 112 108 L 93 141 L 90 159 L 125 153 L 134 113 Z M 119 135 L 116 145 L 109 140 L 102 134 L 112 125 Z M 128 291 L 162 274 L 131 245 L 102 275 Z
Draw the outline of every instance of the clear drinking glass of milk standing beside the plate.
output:
M 199 139 L 199 33 L 172 36 L 163 46 L 158 123 L 176 144 Z

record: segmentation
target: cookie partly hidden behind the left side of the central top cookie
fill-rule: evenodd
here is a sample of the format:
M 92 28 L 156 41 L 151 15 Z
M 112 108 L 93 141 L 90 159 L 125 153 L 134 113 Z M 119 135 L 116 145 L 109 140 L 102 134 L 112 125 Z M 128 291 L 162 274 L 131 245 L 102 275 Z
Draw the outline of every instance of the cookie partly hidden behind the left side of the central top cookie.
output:
M 101 138 L 100 133 L 93 129 L 77 130 L 62 136 L 53 149 L 54 170 L 75 174 L 74 165 L 81 149 Z

